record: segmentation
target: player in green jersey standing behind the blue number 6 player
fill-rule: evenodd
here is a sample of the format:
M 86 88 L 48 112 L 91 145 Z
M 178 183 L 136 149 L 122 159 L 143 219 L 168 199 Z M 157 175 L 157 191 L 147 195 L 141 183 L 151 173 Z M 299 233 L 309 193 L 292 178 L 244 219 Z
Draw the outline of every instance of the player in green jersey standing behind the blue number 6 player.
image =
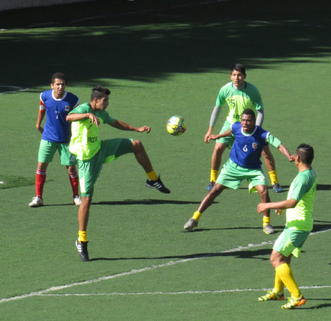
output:
M 241 65 L 240 63 L 233 65 L 230 78 L 231 82 L 224 85 L 217 96 L 216 105 L 211 114 L 209 130 L 204 136 L 204 141 L 206 143 L 209 143 L 209 137 L 213 132 L 217 114 L 220 112 L 220 108 L 225 103 L 228 105 L 228 116 L 226 117 L 226 121 L 224 122 L 220 133 L 226 132 L 230 129 L 231 124 L 236 121 L 240 121 L 240 116 L 246 108 L 250 108 L 255 111 L 255 115 L 257 116 L 256 123 L 258 126 L 262 126 L 264 121 L 264 105 L 261 99 L 261 94 L 255 85 L 245 81 L 246 70 L 244 65 Z M 210 191 L 215 184 L 224 150 L 226 147 L 232 145 L 233 137 L 222 137 L 217 139 L 213 156 L 211 157 L 211 179 L 207 190 Z M 273 191 L 275 191 L 275 193 L 279 193 L 281 192 L 281 186 L 278 182 L 273 154 L 266 154 L 262 151 L 262 156 L 264 156 L 264 162 L 266 163 L 266 167 L 268 169 L 271 185 L 273 185 Z

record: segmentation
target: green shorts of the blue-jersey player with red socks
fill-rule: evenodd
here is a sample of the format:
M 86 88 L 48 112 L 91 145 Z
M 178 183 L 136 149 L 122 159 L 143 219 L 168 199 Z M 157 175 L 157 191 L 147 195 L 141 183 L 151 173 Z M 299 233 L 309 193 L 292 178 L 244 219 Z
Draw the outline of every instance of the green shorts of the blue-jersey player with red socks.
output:
M 76 165 L 76 156 L 69 152 L 69 143 L 53 143 L 51 141 L 45 141 L 44 139 L 41 140 L 39 146 L 39 163 L 52 162 L 56 150 L 58 150 L 58 154 L 60 154 L 61 165 Z

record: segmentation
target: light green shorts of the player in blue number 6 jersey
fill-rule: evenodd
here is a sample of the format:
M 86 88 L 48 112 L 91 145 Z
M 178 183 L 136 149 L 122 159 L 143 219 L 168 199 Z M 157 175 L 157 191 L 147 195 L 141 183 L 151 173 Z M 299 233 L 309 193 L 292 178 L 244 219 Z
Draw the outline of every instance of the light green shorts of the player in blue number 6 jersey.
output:
M 232 189 L 238 189 L 242 180 L 248 181 L 250 193 L 255 190 L 256 185 L 266 185 L 266 178 L 262 169 L 248 169 L 240 167 L 229 159 L 222 167 L 216 183 L 222 184 Z

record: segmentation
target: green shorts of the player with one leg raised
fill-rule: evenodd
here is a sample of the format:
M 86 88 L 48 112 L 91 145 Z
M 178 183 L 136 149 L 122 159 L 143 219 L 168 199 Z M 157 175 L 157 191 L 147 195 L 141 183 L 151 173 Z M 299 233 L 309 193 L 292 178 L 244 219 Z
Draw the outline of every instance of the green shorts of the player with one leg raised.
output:
M 118 157 L 132 153 L 133 139 L 114 138 L 101 141 L 100 149 L 88 161 L 77 160 L 81 196 L 93 196 L 94 184 L 104 163 L 115 161 Z

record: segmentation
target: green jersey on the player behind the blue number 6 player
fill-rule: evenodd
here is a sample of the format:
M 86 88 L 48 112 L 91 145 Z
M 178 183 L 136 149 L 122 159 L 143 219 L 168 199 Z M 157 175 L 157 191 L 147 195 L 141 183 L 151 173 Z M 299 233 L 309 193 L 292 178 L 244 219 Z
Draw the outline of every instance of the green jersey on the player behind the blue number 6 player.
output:
M 243 88 L 235 89 L 233 82 L 224 85 L 216 99 L 216 106 L 222 107 L 224 103 L 228 105 L 228 116 L 226 116 L 226 121 L 229 123 L 235 123 L 240 121 L 240 116 L 246 108 L 254 110 L 256 115 L 256 110 L 263 110 L 263 103 L 261 99 L 261 94 L 255 85 L 247 83 Z

